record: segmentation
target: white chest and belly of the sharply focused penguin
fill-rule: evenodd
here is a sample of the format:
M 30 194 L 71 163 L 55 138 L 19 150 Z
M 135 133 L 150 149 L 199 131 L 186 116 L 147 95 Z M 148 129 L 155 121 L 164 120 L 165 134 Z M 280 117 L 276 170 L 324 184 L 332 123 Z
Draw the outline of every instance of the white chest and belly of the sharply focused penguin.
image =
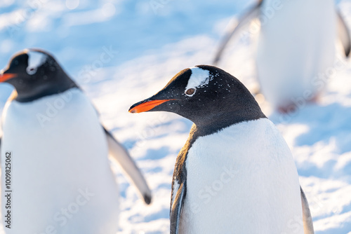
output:
M 293 158 L 267 119 L 200 137 L 186 168 L 184 233 L 292 233 L 302 221 Z

